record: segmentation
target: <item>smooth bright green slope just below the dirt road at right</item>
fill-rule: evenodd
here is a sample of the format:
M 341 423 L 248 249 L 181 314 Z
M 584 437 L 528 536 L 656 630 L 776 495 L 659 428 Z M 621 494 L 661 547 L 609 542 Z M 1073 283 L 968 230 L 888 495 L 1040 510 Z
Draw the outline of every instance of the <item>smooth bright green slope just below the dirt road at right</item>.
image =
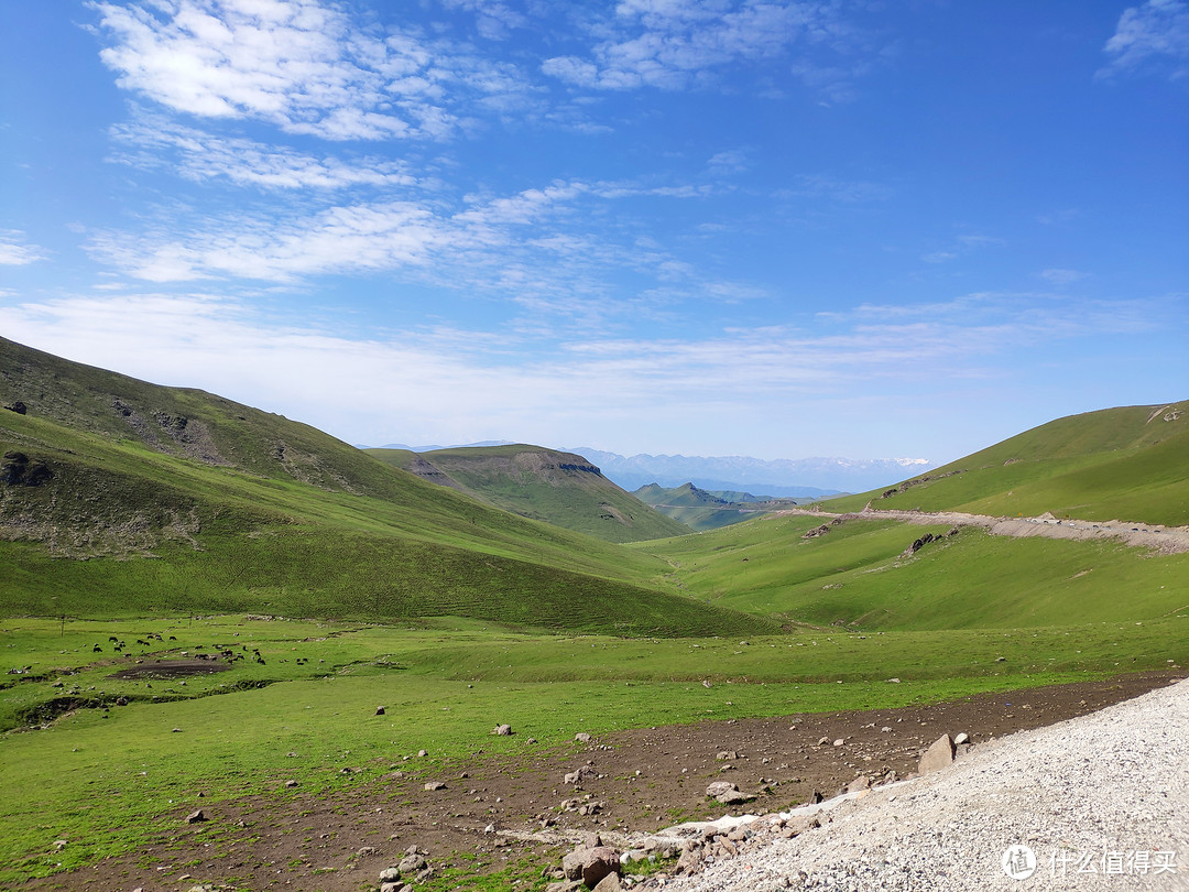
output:
M 848 521 L 801 539 L 816 517 L 769 517 L 642 547 L 682 591 L 785 621 L 863 629 L 1037 628 L 1153 620 L 1189 603 L 1189 554 L 1112 542 L 992 536 L 946 526 Z

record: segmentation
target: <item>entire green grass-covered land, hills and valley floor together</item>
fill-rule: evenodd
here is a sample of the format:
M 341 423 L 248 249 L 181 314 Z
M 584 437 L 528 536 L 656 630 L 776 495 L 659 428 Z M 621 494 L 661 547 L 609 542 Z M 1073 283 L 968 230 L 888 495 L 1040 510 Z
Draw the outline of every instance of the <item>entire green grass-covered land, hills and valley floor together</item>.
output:
M 649 494 L 703 511 L 688 533 L 577 456 L 364 452 L 4 340 L 0 404 L 5 887 L 139 852 L 200 805 L 266 821 L 288 781 L 379 794 L 398 767 L 421 784 L 463 758 L 577 759 L 583 730 L 1189 660 L 1187 553 L 767 504 L 713 528 L 753 503 Z M 823 507 L 1185 523 L 1184 408 L 1063 419 Z M 209 838 L 252 844 L 235 833 Z M 540 866 L 518 879 L 545 885 Z

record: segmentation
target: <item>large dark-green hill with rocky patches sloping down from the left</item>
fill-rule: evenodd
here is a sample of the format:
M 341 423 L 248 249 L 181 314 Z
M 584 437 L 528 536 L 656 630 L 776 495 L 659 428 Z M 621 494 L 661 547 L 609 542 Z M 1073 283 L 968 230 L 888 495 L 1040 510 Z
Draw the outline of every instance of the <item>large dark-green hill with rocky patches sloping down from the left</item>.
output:
M 776 628 L 663 590 L 656 559 L 434 486 L 304 425 L 0 346 L 0 400 L 24 408 L 0 409 L 0 613 Z

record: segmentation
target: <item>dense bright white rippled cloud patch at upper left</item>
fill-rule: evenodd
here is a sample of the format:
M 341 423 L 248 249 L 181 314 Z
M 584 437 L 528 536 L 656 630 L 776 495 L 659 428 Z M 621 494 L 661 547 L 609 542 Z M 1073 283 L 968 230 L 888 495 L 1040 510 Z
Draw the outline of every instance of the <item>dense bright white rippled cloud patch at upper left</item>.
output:
M 439 139 L 527 94 L 516 69 L 416 31 L 365 29 L 317 0 L 92 4 L 117 83 L 199 118 L 329 140 Z

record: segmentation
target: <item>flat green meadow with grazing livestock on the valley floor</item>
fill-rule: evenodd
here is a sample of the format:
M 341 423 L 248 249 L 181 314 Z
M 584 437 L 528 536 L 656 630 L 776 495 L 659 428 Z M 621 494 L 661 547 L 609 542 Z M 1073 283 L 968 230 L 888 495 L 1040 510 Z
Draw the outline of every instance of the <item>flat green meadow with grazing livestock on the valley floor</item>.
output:
M 565 752 L 580 730 L 889 708 L 1184 665 L 1187 614 L 751 639 L 541 635 L 447 617 L 8 618 L 0 659 L 23 674 L 0 677 L 0 885 L 127 850 L 201 805 L 291 796 L 285 780 L 333 790 L 394 766 L 432 779 L 479 750 Z M 113 678 L 138 659 L 216 648 L 245 659 L 185 679 Z M 504 722 L 515 736 L 489 734 Z M 71 844 L 57 853 L 57 838 Z

